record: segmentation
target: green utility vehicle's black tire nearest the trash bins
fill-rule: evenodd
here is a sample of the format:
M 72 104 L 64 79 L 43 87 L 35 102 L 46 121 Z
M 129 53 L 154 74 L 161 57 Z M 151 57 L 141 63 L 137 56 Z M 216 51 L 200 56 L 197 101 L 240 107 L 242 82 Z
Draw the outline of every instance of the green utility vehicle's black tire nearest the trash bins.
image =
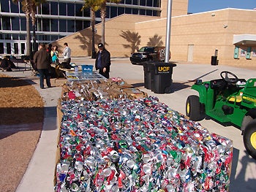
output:
M 198 96 L 188 96 L 186 101 L 186 115 L 189 117 L 190 120 L 200 120 L 201 112 Z

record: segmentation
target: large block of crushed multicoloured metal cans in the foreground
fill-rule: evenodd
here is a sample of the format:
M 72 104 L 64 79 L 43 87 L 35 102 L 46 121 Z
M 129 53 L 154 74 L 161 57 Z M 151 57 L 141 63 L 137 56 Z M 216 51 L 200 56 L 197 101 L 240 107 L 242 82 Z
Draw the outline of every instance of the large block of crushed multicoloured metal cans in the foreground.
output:
M 228 191 L 230 139 L 157 97 L 71 97 L 59 109 L 55 191 Z

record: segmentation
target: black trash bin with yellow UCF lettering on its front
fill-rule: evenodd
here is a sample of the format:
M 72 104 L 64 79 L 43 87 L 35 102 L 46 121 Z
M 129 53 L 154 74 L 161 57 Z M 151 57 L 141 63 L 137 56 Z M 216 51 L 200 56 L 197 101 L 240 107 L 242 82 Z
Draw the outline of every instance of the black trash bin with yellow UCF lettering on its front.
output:
M 174 66 L 176 64 L 165 62 L 151 64 L 151 91 L 154 93 L 171 93 Z

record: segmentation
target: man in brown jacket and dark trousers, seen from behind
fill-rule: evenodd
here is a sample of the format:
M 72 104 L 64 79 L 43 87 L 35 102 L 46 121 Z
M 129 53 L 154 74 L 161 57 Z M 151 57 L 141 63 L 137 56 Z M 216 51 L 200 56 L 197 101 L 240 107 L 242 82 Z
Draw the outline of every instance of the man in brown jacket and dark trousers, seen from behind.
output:
M 44 77 L 48 88 L 50 85 L 50 53 L 45 49 L 45 44 L 39 44 L 39 50 L 34 54 L 34 64 L 39 72 L 40 88 L 44 88 Z

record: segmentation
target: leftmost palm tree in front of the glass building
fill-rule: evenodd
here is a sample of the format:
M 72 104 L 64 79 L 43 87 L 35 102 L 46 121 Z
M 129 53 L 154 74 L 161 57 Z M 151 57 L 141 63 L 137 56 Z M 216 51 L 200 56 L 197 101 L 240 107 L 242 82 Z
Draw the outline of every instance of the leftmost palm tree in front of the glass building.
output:
M 14 4 L 18 4 L 20 0 L 12 0 Z M 30 20 L 30 11 L 31 11 L 31 2 L 33 0 L 21 0 L 22 10 L 26 15 L 26 55 L 31 54 L 31 46 L 30 46 L 30 28 L 29 28 L 29 20 Z

